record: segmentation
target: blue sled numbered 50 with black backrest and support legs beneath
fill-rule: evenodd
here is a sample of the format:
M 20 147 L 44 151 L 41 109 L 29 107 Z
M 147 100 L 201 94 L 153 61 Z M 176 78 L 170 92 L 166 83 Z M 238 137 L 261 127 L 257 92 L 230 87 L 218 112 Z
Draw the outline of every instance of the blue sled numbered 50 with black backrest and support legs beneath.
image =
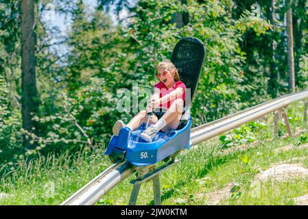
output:
M 132 181 L 134 184 L 130 205 L 137 201 L 141 183 L 152 179 L 154 183 L 154 204 L 161 204 L 161 194 L 159 185 L 159 173 L 173 166 L 178 162 L 176 155 L 182 149 L 191 147 L 191 115 L 189 107 L 193 94 L 196 92 L 198 79 L 204 62 L 204 44 L 198 38 L 182 38 L 174 48 L 171 62 L 178 68 L 180 79 L 186 85 L 186 95 L 190 94 L 190 99 L 185 100 L 185 109 L 180 120 L 178 129 L 168 133 L 158 132 L 152 142 L 145 142 L 139 138 L 145 125 L 139 129 L 130 131 L 124 127 L 119 132 L 119 136 L 112 136 L 105 155 L 109 155 L 112 162 L 126 159 L 137 170 L 137 179 Z M 158 162 L 164 161 L 165 164 L 156 168 Z

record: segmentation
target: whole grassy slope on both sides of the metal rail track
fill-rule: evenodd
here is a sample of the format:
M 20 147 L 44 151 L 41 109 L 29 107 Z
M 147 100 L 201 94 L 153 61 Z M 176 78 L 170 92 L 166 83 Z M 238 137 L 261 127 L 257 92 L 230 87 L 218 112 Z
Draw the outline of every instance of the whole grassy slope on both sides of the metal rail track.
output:
M 292 129 L 301 127 L 307 130 L 307 125 L 302 122 L 302 105 L 289 107 Z M 292 205 L 293 197 L 307 194 L 308 183 L 296 180 L 276 183 L 274 186 L 272 183 L 262 184 L 261 194 L 257 198 L 252 197 L 250 183 L 258 172 L 276 162 L 293 157 L 308 157 L 307 149 L 296 147 L 290 151 L 274 153 L 276 148 L 295 144 L 298 137 L 269 140 L 273 133 L 272 117 L 268 116 L 265 120 L 268 124 L 265 129 L 254 133 L 254 137 L 261 143 L 250 149 L 227 153 L 226 150 L 220 149 L 220 142 L 215 138 L 182 153 L 179 156 L 180 164 L 161 175 L 163 205 L 209 204 L 206 194 L 220 190 L 229 183 L 237 185 L 235 192 L 230 193 L 220 204 Z M 285 133 L 285 128 L 282 131 Z M 102 150 L 98 150 L 96 155 L 91 156 L 83 151 L 74 157 L 67 154 L 58 158 L 42 157 L 28 168 L 21 162 L 19 168 L 12 170 L 10 175 L 1 177 L 0 192 L 13 196 L 0 199 L 0 204 L 58 205 L 110 165 L 102 153 Z M 304 159 L 303 165 L 308 167 L 308 159 Z M 125 205 L 128 203 L 131 190 L 129 180 L 123 181 L 108 192 L 99 204 Z M 145 183 L 139 194 L 137 204 L 152 204 L 152 183 Z

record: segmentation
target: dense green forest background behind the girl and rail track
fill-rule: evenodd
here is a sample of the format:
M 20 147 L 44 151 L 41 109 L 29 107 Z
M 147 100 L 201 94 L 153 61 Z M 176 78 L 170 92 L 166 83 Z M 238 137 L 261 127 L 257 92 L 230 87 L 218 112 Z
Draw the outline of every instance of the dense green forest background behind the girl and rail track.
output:
M 306 0 L 0 0 L 0 172 L 105 147 L 134 116 L 117 110 L 117 91 L 142 99 L 180 38 L 206 47 L 196 127 L 307 88 L 307 35 Z

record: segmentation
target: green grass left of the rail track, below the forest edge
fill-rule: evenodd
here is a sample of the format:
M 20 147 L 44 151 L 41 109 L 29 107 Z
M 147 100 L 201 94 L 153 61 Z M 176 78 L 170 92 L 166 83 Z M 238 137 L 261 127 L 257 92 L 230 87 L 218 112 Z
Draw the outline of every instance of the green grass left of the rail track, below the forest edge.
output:
M 21 161 L 0 179 L 0 192 L 13 196 L 0 199 L 0 205 L 59 205 L 110 165 L 102 154 L 81 150 L 74 156 L 40 157 L 28 165 Z

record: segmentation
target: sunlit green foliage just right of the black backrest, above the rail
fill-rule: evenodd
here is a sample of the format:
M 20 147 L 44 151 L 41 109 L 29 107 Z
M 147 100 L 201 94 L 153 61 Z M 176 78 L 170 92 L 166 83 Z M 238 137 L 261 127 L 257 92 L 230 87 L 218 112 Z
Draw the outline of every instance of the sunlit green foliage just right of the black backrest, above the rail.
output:
M 244 83 L 245 75 L 241 66 L 246 60 L 246 53 L 241 51 L 239 42 L 244 34 L 243 28 L 250 23 L 254 24 L 252 29 L 257 34 L 264 33 L 268 23 L 260 18 L 251 18 L 249 14 L 234 20 L 228 17 L 227 5 L 206 1 L 191 7 L 189 11 L 191 14 L 204 14 L 202 18 L 197 16 L 196 20 L 191 19 L 191 32 L 186 27 L 187 34 L 200 38 L 206 47 L 204 73 L 192 106 L 196 125 L 246 107 L 248 104 L 242 101 L 242 96 L 254 86 L 252 81 Z

